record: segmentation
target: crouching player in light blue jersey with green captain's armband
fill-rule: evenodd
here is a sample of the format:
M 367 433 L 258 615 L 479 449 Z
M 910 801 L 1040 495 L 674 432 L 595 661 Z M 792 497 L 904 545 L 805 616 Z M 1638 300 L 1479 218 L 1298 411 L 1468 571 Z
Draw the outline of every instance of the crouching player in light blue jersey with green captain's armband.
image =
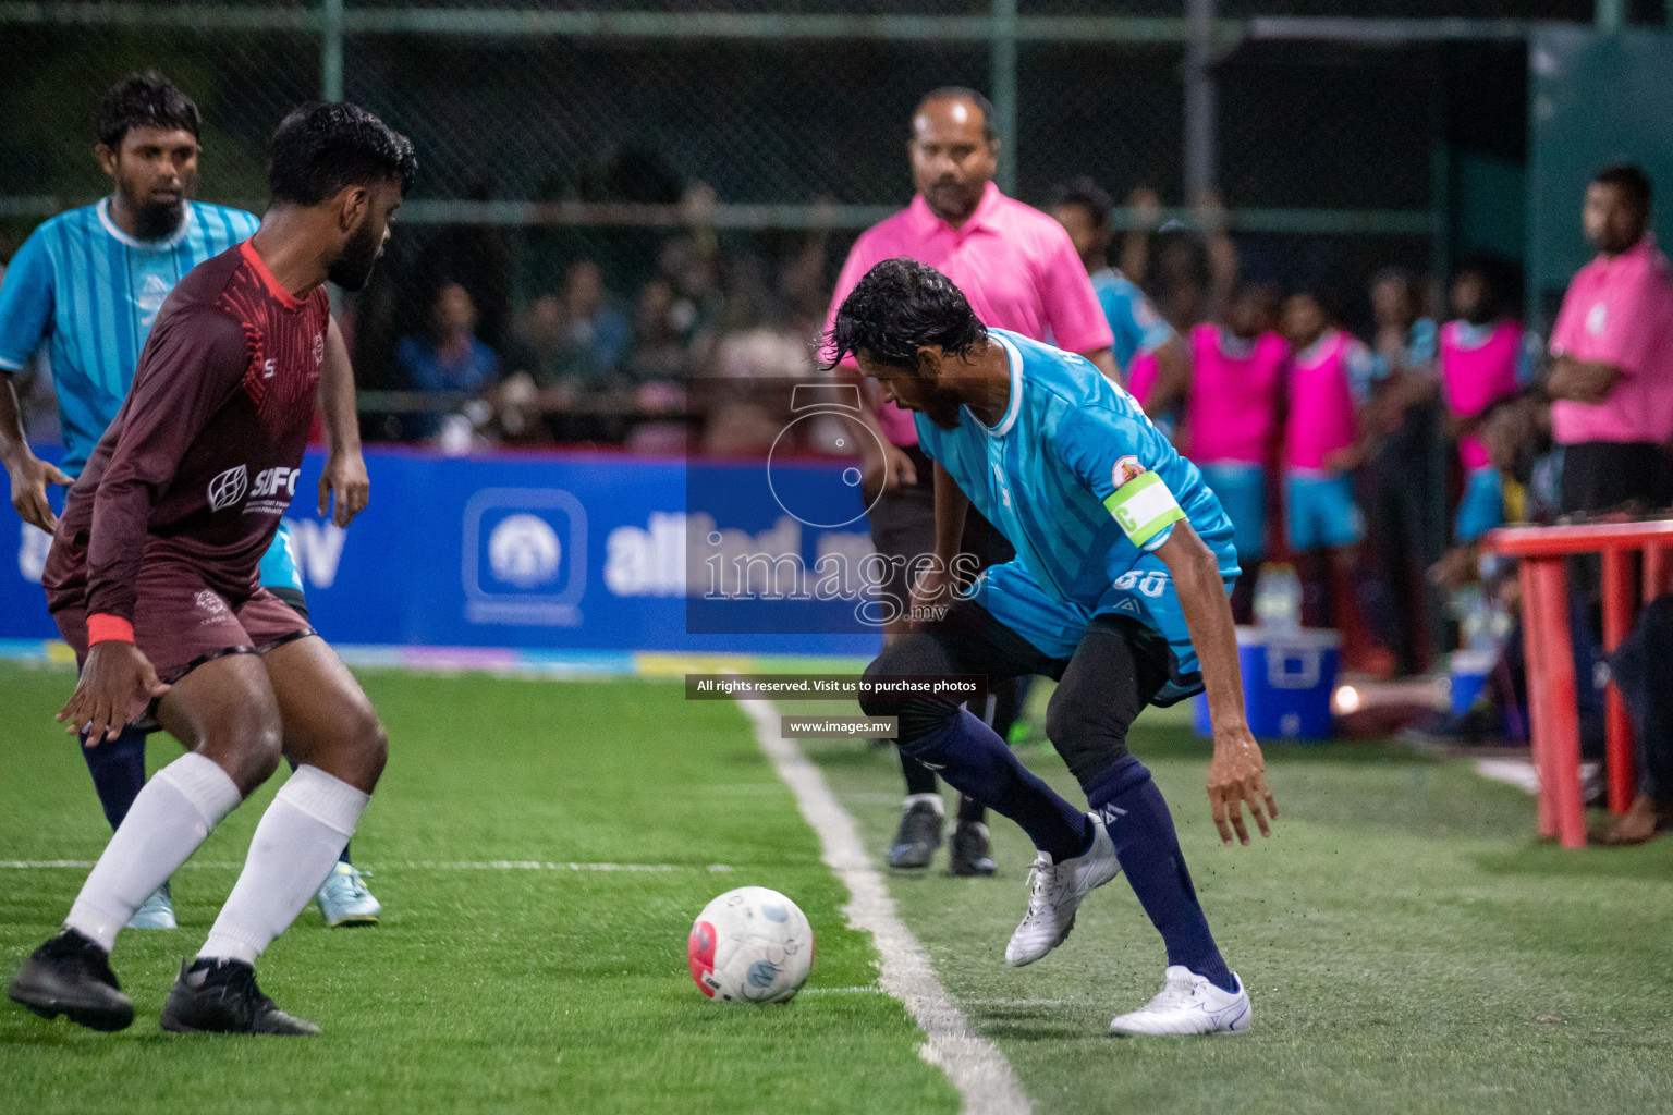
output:
M 923 451 L 935 460 L 939 567 L 913 593 L 913 615 L 930 619 L 887 647 L 867 675 L 1059 680 L 1046 734 L 1091 812 L 1059 797 L 952 700 L 862 700 L 868 715 L 898 717 L 903 752 L 1034 839 L 1029 911 L 1005 960 L 1027 965 L 1051 953 L 1081 901 L 1126 871 L 1166 943 L 1168 971 L 1161 995 L 1119 1015 L 1111 1030 L 1246 1030 L 1248 993 L 1208 929 L 1168 804 L 1126 747 L 1144 705 L 1206 689 L 1215 826 L 1226 844 L 1246 844 L 1246 804 L 1270 834 L 1276 804 L 1243 714 L 1226 602 L 1238 567 L 1220 500 L 1133 396 L 1079 356 L 987 329 L 925 264 L 888 259 L 853 288 L 826 351 L 831 359 L 848 353 L 887 398 L 915 411 Z M 955 583 L 955 542 L 970 503 L 1016 545 L 1017 558 L 939 605 Z

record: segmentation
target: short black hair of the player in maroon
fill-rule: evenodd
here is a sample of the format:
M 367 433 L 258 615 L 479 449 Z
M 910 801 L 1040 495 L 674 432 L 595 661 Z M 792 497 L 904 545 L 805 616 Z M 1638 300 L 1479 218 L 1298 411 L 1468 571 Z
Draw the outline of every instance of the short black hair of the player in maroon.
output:
M 348 186 L 400 179 L 412 189 L 418 155 L 412 140 L 348 102 L 306 104 L 279 120 L 268 154 L 276 206 L 318 206 Z

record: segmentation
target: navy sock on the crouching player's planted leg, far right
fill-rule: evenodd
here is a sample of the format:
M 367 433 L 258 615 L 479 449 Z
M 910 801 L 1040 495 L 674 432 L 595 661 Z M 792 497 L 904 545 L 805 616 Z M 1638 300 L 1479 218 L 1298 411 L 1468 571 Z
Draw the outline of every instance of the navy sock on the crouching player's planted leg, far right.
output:
M 1236 980 L 1208 931 L 1173 816 L 1149 769 L 1126 756 L 1087 784 L 1086 801 L 1104 819 L 1116 859 L 1168 946 L 1168 963 L 1208 976 L 1223 991 L 1235 990 Z

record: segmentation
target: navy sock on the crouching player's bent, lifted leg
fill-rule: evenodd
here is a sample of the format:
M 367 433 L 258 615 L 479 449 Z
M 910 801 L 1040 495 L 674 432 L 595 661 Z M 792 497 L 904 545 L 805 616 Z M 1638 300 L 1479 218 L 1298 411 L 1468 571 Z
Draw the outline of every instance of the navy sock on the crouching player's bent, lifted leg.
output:
M 1029 774 L 994 729 L 959 709 L 907 749 L 940 772 L 949 786 L 1022 826 L 1034 846 L 1057 863 L 1074 859 L 1092 843 L 1086 814 Z

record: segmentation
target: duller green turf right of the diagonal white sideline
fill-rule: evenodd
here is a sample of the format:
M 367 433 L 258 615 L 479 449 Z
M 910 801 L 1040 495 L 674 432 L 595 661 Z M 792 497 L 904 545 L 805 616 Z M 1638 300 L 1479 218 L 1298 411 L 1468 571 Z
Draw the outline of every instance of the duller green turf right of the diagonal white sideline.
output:
M 1208 746 L 1184 717 L 1153 710 L 1131 744 L 1250 988 L 1251 1033 L 1106 1036 L 1166 965 L 1124 879 L 1087 899 L 1059 951 L 1007 968 L 1032 858 L 1007 821 L 992 824 L 995 879 L 949 878 L 940 858 L 892 878 L 907 926 L 1039 1110 L 1673 1110 L 1673 838 L 1563 851 L 1536 841 L 1531 797 L 1467 762 L 1330 744 L 1268 747 L 1275 834 L 1223 848 Z M 900 811 L 893 756 L 806 746 L 880 856 Z M 1084 801 L 1049 746 L 1022 754 Z

